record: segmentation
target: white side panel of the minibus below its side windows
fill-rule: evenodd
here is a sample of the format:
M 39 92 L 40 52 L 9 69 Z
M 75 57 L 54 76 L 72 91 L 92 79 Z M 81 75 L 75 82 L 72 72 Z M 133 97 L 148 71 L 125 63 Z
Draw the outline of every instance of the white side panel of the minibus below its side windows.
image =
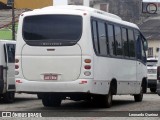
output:
M 117 94 L 135 94 L 136 61 L 95 56 L 94 80 L 110 83 L 112 79 L 117 80 Z M 108 94 L 109 88 L 103 86 L 101 89 Z

